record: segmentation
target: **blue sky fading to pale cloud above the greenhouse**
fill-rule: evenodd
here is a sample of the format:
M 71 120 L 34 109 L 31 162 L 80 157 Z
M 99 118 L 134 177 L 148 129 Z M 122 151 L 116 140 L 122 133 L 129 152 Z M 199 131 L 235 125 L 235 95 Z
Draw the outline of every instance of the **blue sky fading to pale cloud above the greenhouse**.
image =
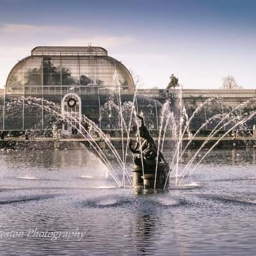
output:
M 140 77 L 165 88 L 220 88 L 234 76 L 255 88 L 254 0 L 0 0 L 0 87 L 37 45 L 108 50 Z

